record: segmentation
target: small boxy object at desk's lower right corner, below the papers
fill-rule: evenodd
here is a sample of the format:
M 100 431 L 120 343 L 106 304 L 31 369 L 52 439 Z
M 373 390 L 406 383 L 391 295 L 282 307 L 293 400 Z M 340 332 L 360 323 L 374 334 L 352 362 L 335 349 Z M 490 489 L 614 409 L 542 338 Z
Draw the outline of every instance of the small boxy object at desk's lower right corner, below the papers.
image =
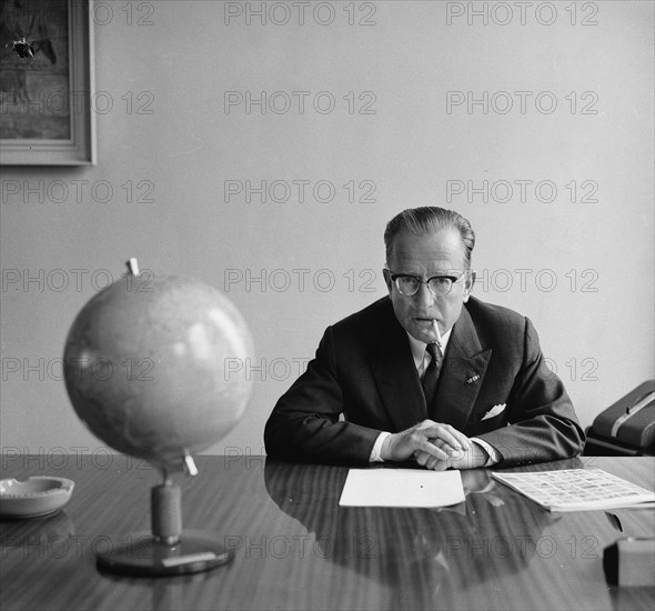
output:
M 655 585 L 655 539 L 619 539 L 605 548 L 603 568 L 613 585 Z

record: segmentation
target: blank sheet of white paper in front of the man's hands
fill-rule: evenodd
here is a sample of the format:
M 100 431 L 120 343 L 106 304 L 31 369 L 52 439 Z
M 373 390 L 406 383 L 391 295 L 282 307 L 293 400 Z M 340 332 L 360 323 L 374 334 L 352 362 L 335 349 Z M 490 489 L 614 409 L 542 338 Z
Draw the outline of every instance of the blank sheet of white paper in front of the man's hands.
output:
M 342 507 L 446 507 L 465 500 L 460 471 L 351 469 Z

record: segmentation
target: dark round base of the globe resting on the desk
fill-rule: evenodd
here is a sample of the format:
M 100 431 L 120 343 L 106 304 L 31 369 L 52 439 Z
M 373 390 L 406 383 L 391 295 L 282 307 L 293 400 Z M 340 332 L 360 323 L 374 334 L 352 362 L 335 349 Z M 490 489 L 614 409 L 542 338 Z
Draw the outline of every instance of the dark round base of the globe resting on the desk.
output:
M 211 533 L 184 530 L 173 544 L 150 533 L 134 534 L 129 543 L 98 553 L 95 564 L 100 571 L 122 575 L 180 575 L 215 569 L 232 558 L 233 554 Z

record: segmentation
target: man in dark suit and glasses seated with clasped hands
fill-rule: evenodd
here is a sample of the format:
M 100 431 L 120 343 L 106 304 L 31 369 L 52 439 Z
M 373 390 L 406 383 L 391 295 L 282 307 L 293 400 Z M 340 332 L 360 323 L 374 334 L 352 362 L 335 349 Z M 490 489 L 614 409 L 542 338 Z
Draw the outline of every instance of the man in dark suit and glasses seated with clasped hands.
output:
M 268 454 L 435 470 L 578 454 L 584 433 L 531 321 L 471 296 L 470 222 L 410 209 L 384 242 L 389 297 L 326 329 L 269 418 Z

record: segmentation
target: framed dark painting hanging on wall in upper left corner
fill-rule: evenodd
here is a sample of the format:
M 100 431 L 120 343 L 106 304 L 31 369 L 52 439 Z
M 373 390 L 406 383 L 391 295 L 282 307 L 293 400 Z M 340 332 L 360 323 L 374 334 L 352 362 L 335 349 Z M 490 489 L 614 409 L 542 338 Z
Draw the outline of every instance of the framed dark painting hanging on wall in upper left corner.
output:
M 0 2 L 0 164 L 95 163 L 90 4 Z

